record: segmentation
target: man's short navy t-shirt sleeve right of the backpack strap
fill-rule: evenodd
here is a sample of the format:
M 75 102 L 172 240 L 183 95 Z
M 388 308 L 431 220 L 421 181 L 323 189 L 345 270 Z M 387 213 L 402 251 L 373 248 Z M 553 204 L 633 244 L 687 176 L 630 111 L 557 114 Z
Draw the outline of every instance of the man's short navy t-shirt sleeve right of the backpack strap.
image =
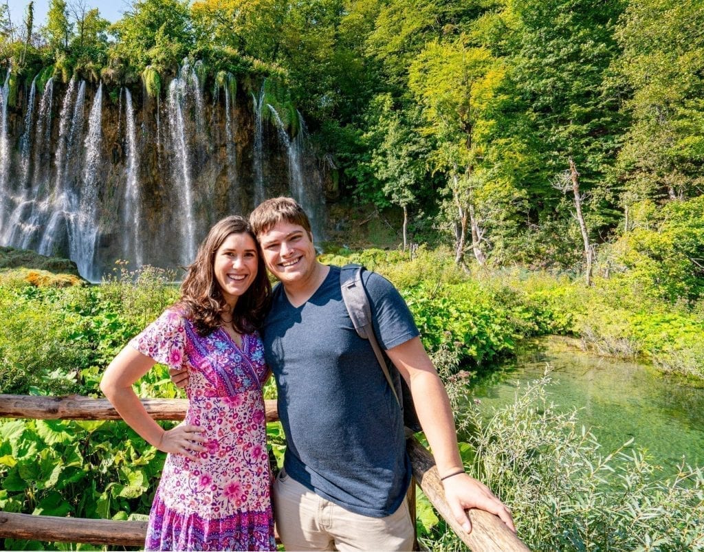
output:
M 420 332 L 413 321 L 413 314 L 394 284 L 376 272 L 367 274 L 365 288 L 372 306 L 374 331 L 382 349 L 388 351 L 418 337 Z

